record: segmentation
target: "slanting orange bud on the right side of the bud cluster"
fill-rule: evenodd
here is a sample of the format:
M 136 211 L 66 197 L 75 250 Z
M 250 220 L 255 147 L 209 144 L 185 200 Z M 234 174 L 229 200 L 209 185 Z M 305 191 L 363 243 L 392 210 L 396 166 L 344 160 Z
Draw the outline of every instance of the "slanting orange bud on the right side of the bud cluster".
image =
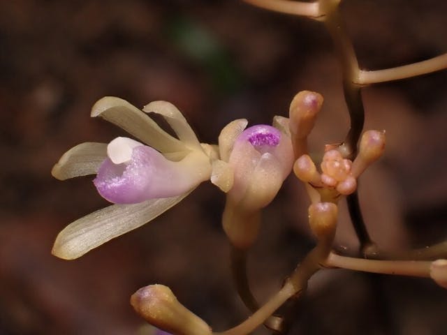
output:
M 365 169 L 377 161 L 385 150 L 385 131 L 365 131 L 360 140 L 358 156 L 353 162 L 353 177 L 358 177 Z

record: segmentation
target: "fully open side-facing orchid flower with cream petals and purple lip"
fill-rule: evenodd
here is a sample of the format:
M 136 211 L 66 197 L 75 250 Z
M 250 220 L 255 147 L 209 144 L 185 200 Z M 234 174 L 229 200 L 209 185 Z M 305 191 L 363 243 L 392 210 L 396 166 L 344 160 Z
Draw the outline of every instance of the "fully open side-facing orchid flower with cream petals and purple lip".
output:
M 115 203 L 64 228 L 52 249 L 57 257 L 78 258 L 152 221 L 210 178 L 224 191 L 231 187 L 231 175 L 221 168 L 217 150 L 200 144 L 174 105 L 155 101 L 143 111 L 160 114 L 178 138 L 127 101 L 105 97 L 92 107 L 91 117 L 102 117 L 141 142 L 127 137 L 117 137 L 109 144 L 85 142 L 68 150 L 54 165 L 52 175 L 60 180 L 96 174 L 98 193 Z

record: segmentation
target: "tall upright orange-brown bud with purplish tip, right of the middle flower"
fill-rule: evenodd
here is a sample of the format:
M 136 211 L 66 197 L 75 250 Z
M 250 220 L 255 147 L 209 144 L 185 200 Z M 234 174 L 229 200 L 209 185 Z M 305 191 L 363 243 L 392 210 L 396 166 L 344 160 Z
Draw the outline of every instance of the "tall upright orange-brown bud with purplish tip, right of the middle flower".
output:
M 307 136 L 314 128 L 316 115 L 323 104 L 323 96 L 312 91 L 300 91 L 292 100 L 289 109 L 289 128 L 295 158 L 307 154 Z

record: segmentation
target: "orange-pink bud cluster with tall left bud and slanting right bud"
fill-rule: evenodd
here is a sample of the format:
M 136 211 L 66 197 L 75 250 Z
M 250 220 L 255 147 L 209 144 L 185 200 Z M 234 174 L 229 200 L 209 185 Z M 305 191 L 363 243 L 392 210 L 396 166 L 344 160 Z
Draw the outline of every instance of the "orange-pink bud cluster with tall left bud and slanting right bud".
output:
M 345 158 L 336 145 L 326 145 L 318 171 L 307 152 L 307 136 L 314 127 L 323 97 L 315 92 L 301 91 L 290 108 L 290 128 L 296 161 L 293 172 L 318 193 L 320 201 L 337 201 L 339 195 L 356 191 L 357 179 L 365 169 L 379 159 L 385 148 L 384 131 L 366 131 L 360 140 L 358 156 Z

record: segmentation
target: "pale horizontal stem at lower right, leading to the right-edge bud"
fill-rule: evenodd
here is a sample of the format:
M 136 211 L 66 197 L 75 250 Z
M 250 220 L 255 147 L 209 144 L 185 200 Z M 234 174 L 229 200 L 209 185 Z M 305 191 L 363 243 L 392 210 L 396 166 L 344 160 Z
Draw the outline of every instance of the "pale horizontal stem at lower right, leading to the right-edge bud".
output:
M 431 261 L 417 260 L 367 260 L 330 253 L 323 262 L 327 267 L 339 267 L 374 274 L 395 274 L 400 276 L 430 277 Z

